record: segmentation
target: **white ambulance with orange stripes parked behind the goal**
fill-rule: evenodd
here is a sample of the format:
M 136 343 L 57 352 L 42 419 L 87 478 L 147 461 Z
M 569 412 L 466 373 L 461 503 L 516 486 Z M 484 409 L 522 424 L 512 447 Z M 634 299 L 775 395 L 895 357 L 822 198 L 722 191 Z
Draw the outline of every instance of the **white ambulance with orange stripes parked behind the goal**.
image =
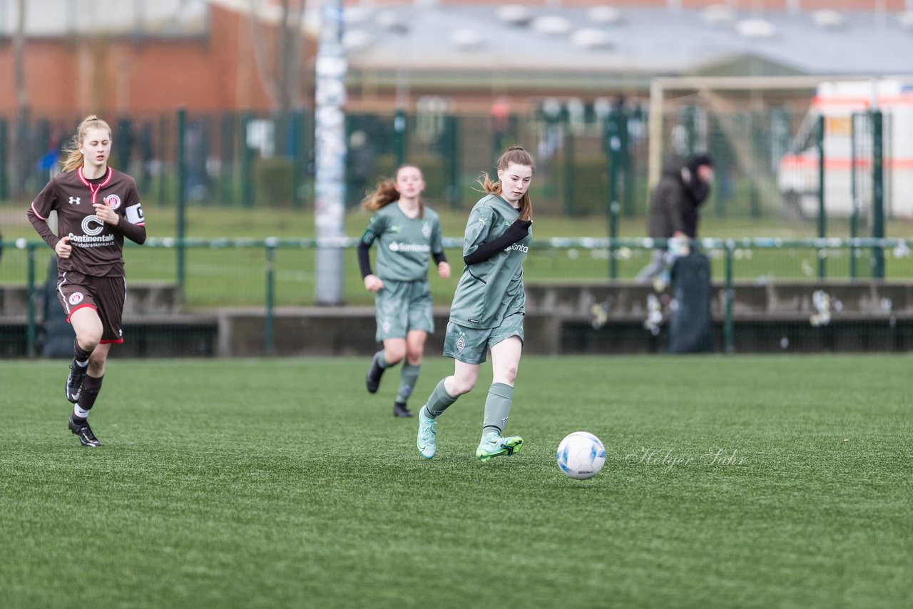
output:
M 818 215 L 818 118 L 824 116 L 824 209 L 868 215 L 872 203 L 871 110 L 883 116 L 885 217 L 913 218 L 913 79 L 821 83 L 777 183 L 787 211 Z M 855 154 L 854 154 L 855 149 Z M 855 171 L 854 171 L 855 167 Z M 853 196 L 855 179 L 855 198 Z

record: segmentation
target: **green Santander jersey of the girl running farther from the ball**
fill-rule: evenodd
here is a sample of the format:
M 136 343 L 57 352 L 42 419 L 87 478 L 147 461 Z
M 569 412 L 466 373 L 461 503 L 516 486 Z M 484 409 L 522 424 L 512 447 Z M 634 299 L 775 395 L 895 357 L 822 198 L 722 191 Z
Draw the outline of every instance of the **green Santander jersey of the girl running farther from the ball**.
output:
M 441 221 L 425 207 L 425 216 L 410 218 L 394 201 L 384 205 L 368 221 L 362 241 L 377 241 L 374 275 L 382 279 L 415 281 L 428 277 L 428 257 L 444 251 Z

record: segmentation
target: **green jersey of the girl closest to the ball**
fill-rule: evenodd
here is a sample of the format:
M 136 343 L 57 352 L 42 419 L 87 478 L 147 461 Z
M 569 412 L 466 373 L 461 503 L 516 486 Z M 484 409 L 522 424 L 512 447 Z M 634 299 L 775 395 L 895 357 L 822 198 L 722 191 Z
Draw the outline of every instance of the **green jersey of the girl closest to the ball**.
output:
M 463 256 L 497 239 L 519 217 L 519 212 L 497 194 L 488 194 L 469 212 Z M 523 314 L 523 260 L 530 251 L 530 234 L 494 256 L 468 265 L 456 285 L 450 320 L 468 328 L 497 328 L 510 315 Z

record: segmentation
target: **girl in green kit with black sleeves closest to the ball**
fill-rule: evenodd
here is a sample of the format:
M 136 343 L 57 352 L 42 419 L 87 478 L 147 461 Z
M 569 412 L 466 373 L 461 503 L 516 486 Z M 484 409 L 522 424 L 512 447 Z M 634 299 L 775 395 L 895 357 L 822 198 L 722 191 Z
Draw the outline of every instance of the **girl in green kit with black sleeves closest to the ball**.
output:
M 532 156 L 519 146 L 498 158 L 498 181 L 483 174 L 487 193 L 472 208 L 463 240 L 466 268 L 456 287 L 444 338 L 444 355 L 454 373 L 437 383 L 418 415 L 418 450 L 435 456 L 436 419 L 476 385 L 479 366 L 491 350 L 492 383 L 485 401 L 482 439 L 476 457 L 513 455 L 520 436 L 502 436 L 513 402 L 513 385 L 523 349 L 523 260 L 530 251 Z

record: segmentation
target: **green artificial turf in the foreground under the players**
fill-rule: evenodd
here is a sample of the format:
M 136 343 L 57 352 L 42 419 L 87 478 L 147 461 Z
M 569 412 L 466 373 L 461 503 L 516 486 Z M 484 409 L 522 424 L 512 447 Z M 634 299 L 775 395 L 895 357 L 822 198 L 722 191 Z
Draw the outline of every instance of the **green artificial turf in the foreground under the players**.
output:
M 421 458 L 368 359 L 4 362 L 6 607 L 908 607 L 908 356 L 524 358 L 514 457 L 490 383 Z M 426 356 L 417 409 L 452 362 Z M 555 465 L 599 436 L 590 480 Z

